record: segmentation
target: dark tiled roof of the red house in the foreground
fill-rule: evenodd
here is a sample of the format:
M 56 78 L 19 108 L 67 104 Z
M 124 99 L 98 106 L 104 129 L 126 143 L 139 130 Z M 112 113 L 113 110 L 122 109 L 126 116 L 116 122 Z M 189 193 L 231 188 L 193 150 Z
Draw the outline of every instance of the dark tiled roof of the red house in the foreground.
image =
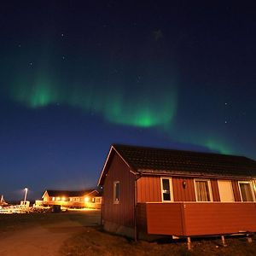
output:
M 256 161 L 244 156 L 113 144 L 136 172 L 256 177 Z

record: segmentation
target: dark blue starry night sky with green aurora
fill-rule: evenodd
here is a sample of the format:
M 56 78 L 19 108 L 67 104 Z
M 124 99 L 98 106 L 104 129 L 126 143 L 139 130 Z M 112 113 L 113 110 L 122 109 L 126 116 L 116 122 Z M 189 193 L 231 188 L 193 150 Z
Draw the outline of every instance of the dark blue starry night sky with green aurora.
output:
M 1 3 L 6 201 L 95 186 L 111 143 L 256 159 L 256 6 L 169 2 Z

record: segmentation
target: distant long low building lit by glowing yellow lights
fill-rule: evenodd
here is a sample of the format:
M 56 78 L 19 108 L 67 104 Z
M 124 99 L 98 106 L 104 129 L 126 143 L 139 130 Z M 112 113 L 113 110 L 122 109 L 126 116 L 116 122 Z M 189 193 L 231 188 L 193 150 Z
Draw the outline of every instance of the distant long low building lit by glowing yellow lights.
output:
M 60 205 L 69 208 L 101 208 L 102 195 L 96 189 L 68 191 L 68 190 L 45 190 L 43 201 L 36 201 L 36 205 L 49 207 Z

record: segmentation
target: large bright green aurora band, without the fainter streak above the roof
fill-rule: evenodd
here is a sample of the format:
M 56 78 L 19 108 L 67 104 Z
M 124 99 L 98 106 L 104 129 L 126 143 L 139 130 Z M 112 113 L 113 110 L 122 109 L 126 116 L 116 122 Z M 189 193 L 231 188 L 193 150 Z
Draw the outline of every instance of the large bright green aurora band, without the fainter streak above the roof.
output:
M 65 87 L 53 85 L 49 79 L 38 79 L 30 85 L 23 85 L 26 82 L 20 84 L 15 84 L 11 90 L 12 98 L 28 108 L 66 104 L 80 108 L 85 113 L 93 111 L 113 124 L 137 127 L 170 125 L 177 108 L 177 92 L 174 87 L 163 96 L 157 91 L 147 93 L 146 88 L 141 89 L 143 95 L 134 96 L 122 87 L 104 90 L 85 85 L 65 90 Z

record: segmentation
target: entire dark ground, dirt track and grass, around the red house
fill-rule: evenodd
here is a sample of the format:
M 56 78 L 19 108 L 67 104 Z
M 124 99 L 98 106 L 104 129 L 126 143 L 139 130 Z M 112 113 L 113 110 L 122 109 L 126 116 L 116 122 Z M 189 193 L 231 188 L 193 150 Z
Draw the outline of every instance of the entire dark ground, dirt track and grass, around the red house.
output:
M 0 255 L 256 255 L 256 240 L 137 241 L 102 231 L 100 212 L 0 215 Z

